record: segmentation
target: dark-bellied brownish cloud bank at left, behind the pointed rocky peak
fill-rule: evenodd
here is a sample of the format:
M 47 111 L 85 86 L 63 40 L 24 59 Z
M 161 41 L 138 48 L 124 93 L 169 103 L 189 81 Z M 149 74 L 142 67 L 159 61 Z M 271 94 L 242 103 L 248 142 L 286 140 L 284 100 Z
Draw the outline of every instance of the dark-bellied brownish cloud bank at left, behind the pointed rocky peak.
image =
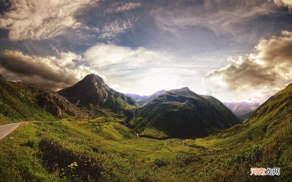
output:
M 14 81 L 34 83 L 57 91 L 72 86 L 90 73 L 97 71 L 80 63 L 81 56 L 73 52 L 59 52 L 58 56 L 27 56 L 22 52 L 5 50 L 0 54 L 0 73 Z M 106 79 L 105 76 L 102 76 Z

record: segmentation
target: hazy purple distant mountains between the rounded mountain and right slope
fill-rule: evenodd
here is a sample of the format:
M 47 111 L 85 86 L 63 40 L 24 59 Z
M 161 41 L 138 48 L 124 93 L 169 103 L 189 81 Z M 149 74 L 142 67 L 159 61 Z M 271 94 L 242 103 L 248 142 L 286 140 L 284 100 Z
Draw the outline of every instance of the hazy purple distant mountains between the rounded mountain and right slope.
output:
M 259 107 L 259 103 L 248 102 L 223 102 L 223 104 L 238 116 L 250 113 Z

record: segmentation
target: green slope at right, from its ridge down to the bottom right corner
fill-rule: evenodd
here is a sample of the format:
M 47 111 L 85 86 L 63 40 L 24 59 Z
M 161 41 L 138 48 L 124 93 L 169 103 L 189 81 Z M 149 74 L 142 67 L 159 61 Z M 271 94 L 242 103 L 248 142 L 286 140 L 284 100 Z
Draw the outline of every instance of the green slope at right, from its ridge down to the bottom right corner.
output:
M 292 83 L 263 103 L 249 120 L 200 143 L 228 150 L 200 174 L 202 181 L 291 181 Z M 226 155 L 226 154 L 225 154 Z M 280 176 L 250 176 L 251 167 L 280 168 Z M 216 169 L 216 170 L 213 170 Z M 249 172 L 250 173 L 250 172 Z

